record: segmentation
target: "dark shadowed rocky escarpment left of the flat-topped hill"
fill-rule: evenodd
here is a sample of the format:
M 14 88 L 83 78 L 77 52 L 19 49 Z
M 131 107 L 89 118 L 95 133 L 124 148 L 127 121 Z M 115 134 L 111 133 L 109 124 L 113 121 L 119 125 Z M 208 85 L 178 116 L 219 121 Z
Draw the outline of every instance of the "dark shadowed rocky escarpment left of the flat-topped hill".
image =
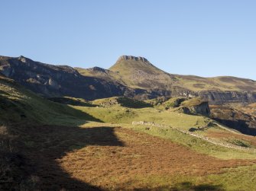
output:
M 2 57 L 0 70 L 6 77 L 46 97 L 70 96 L 92 100 L 125 93 L 125 87 L 118 82 L 83 76 L 70 66 L 34 62 L 24 56 Z

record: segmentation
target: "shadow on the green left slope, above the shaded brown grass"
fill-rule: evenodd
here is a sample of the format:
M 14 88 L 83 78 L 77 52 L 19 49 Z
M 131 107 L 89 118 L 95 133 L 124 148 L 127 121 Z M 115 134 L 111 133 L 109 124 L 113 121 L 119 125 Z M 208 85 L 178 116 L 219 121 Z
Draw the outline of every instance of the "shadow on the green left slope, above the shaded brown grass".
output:
M 44 100 L 41 100 L 44 103 Z M 7 123 L 26 123 L 34 121 L 35 119 L 45 119 L 57 121 L 65 125 L 68 122 L 76 122 L 74 126 L 79 126 L 87 123 L 88 121 L 102 122 L 88 113 L 77 110 L 69 105 L 60 103 L 45 104 L 44 108 L 37 108 L 35 103 L 30 103 L 29 100 L 11 100 L 8 97 L 2 96 L 0 91 L 0 115 Z M 36 109 L 35 109 L 36 108 Z M 49 116 L 53 116 L 49 118 Z M 49 119 L 48 119 L 49 118 Z M 37 123 L 37 122 L 36 122 Z M 44 123 L 47 123 L 46 121 Z

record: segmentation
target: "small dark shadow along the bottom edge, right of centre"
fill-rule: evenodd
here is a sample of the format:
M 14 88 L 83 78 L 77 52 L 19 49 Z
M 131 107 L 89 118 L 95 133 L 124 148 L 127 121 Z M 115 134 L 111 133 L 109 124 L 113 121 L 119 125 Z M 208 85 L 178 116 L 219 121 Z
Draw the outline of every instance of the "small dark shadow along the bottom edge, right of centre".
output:
M 139 188 L 139 189 L 134 189 L 134 190 L 170 190 L 170 191 L 179 191 L 179 190 L 190 190 L 190 191 L 222 191 L 225 190 L 222 185 L 211 185 L 211 184 L 199 184 L 197 186 L 194 186 L 193 183 L 190 182 L 183 182 L 183 183 L 178 183 L 173 187 L 169 186 L 162 186 L 162 187 L 157 187 L 154 189 L 148 189 L 148 188 Z

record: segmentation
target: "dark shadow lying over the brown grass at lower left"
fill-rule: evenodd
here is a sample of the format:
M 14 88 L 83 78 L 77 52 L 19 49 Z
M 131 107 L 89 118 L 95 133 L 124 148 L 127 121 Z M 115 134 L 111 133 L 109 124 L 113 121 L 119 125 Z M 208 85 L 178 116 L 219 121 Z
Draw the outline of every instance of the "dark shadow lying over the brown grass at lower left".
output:
M 0 176 L 5 180 L 0 189 L 100 190 L 71 177 L 70 173 L 60 167 L 57 160 L 70 151 L 89 145 L 122 147 L 123 143 L 118 140 L 114 130 L 115 128 L 106 126 L 86 129 L 66 126 L 8 128 L 8 135 L 18 135 L 15 142 L 12 142 L 12 146 L 18 152 L 8 153 L 12 159 L 4 158 L 8 161 L 6 165 L 14 170 L 7 170 L 5 177 Z M 8 154 L 5 153 L 6 156 Z M 70 165 L 73 165 L 72 161 Z

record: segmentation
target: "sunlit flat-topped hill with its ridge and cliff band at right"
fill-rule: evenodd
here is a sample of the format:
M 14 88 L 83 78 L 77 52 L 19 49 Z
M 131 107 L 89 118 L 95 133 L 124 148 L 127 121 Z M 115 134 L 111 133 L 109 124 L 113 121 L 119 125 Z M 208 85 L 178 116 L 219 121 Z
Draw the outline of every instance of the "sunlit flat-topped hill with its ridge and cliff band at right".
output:
M 79 68 L 78 71 L 82 75 L 109 78 L 130 88 L 144 90 L 147 94 L 144 92 L 144 97 L 140 97 L 142 99 L 199 96 L 215 104 L 253 103 L 256 100 L 256 82 L 253 80 L 231 76 L 202 78 L 172 75 L 155 67 L 143 57 L 121 56 L 109 70 Z

